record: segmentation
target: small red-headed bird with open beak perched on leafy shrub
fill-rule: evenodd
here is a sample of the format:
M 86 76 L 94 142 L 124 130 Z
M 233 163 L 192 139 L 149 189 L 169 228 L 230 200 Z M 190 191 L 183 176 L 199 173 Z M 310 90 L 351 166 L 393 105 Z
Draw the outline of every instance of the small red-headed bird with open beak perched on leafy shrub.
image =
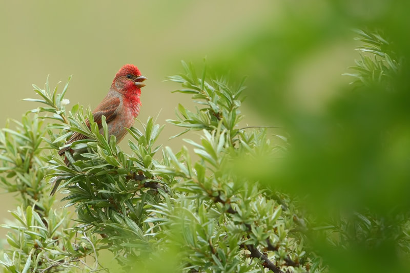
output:
M 126 128 L 131 128 L 134 124 L 134 118 L 139 113 L 141 101 L 141 88 L 145 86 L 143 81 L 147 78 L 141 76 L 138 68 L 134 65 L 125 65 L 117 72 L 112 81 L 110 91 L 107 96 L 101 101 L 93 111 L 94 122 L 98 124 L 99 132 L 103 133 L 103 125 L 101 117 L 106 117 L 108 135 L 115 136 L 117 142 L 127 134 Z M 90 127 L 90 122 L 87 119 L 86 123 Z M 85 135 L 74 133 L 66 144 L 76 140 L 86 139 Z M 69 146 L 58 151 L 58 155 L 62 156 L 66 151 L 72 150 Z M 69 165 L 69 161 L 65 158 L 64 162 Z M 57 191 L 61 179 L 56 179 L 53 190 L 50 195 L 54 195 Z

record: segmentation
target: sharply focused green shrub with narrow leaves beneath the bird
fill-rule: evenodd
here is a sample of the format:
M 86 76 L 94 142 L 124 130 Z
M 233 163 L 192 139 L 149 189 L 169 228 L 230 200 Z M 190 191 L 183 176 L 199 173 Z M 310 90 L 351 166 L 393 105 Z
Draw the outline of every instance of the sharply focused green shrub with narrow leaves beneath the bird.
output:
M 35 87 L 41 98 L 31 100 L 44 105 L 0 134 L 2 184 L 23 201 L 12 213 L 17 222 L 6 226 L 8 271 L 110 271 L 98 259 L 105 249 L 121 267 L 141 272 L 322 270 L 294 221 L 302 217 L 297 203 L 259 184 L 252 170 L 238 170 L 243 162 L 269 163 L 284 150 L 266 129 L 238 126 L 242 83 L 199 78 L 183 66 L 185 73 L 169 79 L 197 107 L 179 104 L 168 122 L 182 127 L 181 134 L 198 131 L 200 140 L 184 139 L 187 146 L 177 153 L 156 143 L 163 126 L 153 118 L 127 129 L 123 151 L 108 117 L 98 123 L 95 112 L 78 105 L 66 111 L 67 85 L 60 94 L 48 81 L 44 90 Z M 73 134 L 85 138 L 66 144 Z M 65 144 L 71 152 L 61 157 Z M 53 179 L 75 215 L 51 208 Z

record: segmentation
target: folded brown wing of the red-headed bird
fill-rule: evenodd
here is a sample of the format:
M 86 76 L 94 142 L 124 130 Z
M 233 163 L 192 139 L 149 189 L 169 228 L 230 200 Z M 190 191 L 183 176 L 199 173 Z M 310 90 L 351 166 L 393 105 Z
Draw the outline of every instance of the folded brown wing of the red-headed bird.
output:
M 98 128 L 103 127 L 103 125 L 101 125 L 101 117 L 105 116 L 106 117 L 106 122 L 109 123 L 111 120 L 113 120 L 117 113 L 116 110 L 119 106 L 120 100 L 118 97 L 111 97 L 111 98 L 107 98 L 104 99 L 104 104 L 100 103 L 97 108 L 94 110 L 93 112 L 93 117 L 94 117 L 94 122 L 96 122 L 98 124 Z M 86 120 L 86 124 L 87 127 L 90 128 L 90 121 L 87 119 Z M 70 139 L 67 141 L 66 144 L 72 143 L 74 141 L 77 140 L 81 140 L 81 139 L 86 139 L 87 137 L 83 134 L 77 133 L 75 132 Z M 58 151 L 58 154 L 64 155 L 64 152 L 69 150 L 70 147 L 65 147 L 63 149 L 61 149 L 60 151 Z

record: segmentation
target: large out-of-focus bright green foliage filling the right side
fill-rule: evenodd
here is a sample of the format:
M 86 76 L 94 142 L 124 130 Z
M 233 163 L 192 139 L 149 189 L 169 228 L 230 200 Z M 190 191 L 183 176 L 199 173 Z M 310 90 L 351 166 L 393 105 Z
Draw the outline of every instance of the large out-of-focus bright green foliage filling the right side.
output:
M 409 4 L 320 3 L 288 3 L 288 12 L 273 19 L 271 28 L 235 48 L 220 65 L 232 67 L 234 78 L 249 72 L 254 109 L 264 121 L 281 124 L 291 143 L 289 153 L 270 166 L 265 158 L 244 158 L 238 171 L 252 166 L 253 178 L 304 197 L 311 223 L 336 227 L 330 234 L 338 247 L 312 235 L 333 272 L 409 271 L 410 47 L 404 34 L 410 29 Z M 295 85 L 301 63 L 326 54 L 326 47 L 350 39 L 357 28 L 364 32 L 356 34 L 355 70 L 339 73 L 354 74 L 361 84 L 326 85 L 328 67 L 316 67 L 318 74 L 303 71 L 310 81 Z M 329 62 L 338 58 L 325 56 Z M 330 87 L 331 96 L 308 93 L 314 91 L 310 86 Z

